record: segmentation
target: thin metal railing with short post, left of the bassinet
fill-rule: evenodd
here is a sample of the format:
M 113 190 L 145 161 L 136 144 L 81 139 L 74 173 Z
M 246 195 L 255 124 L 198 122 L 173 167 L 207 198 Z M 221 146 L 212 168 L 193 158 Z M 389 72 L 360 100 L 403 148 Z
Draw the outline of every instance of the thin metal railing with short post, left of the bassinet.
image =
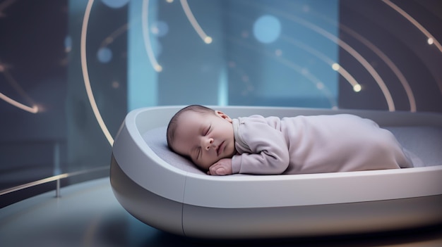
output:
M 40 185 L 40 184 L 46 184 L 46 183 L 49 183 L 49 182 L 56 181 L 55 196 L 56 197 L 60 197 L 61 196 L 61 194 L 60 194 L 60 180 L 61 179 L 65 179 L 66 177 L 74 177 L 74 176 L 78 176 L 78 175 L 88 174 L 88 173 L 91 173 L 91 172 L 104 171 L 104 170 L 109 170 L 109 165 L 95 167 L 95 168 L 88 169 L 88 170 L 80 170 L 80 171 L 77 171 L 77 172 L 66 172 L 66 173 L 63 173 L 63 174 L 60 174 L 60 175 L 55 175 L 55 176 L 52 176 L 52 177 L 47 177 L 47 178 L 40 179 L 40 180 L 37 180 L 37 181 L 34 181 L 34 182 L 29 182 L 27 184 L 21 184 L 21 185 L 18 185 L 18 186 L 11 187 L 9 189 L 1 190 L 0 191 L 0 196 L 3 196 L 5 194 L 9 194 L 9 193 L 12 193 L 12 192 L 15 192 L 15 191 L 19 191 L 19 190 L 22 190 L 22 189 L 27 189 L 27 188 L 30 188 L 32 186 L 37 186 L 37 185 Z

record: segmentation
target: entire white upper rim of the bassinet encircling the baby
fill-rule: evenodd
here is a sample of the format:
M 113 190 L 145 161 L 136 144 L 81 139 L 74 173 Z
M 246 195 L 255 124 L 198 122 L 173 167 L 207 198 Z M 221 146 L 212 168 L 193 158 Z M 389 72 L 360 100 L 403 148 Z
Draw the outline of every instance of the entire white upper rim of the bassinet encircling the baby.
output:
M 442 160 L 441 165 L 433 167 L 313 175 L 213 177 L 185 172 L 158 157 L 142 137 L 150 129 L 167 125 L 181 107 L 158 106 L 131 111 L 113 146 L 114 157 L 126 175 L 143 188 L 170 200 L 209 208 L 262 208 L 442 194 Z M 278 116 L 352 113 L 371 118 L 380 125 L 442 126 L 442 115 L 436 113 L 257 106 L 216 108 L 232 118 L 256 113 Z

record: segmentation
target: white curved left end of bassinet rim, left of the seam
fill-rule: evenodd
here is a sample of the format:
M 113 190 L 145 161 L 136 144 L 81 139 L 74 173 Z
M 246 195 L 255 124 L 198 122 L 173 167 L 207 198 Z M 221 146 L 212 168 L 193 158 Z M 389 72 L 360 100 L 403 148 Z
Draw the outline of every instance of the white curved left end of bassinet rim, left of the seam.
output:
M 141 134 L 143 132 L 139 132 L 136 125 L 138 120 L 139 127 L 143 129 L 143 122 L 138 118 L 150 118 L 148 127 L 152 127 L 157 122 L 155 120 L 160 120 L 162 116 L 142 113 L 147 112 L 138 109 L 126 115 L 112 146 L 114 158 L 121 170 L 136 184 L 159 196 L 182 203 L 187 172 L 169 165 L 145 143 Z

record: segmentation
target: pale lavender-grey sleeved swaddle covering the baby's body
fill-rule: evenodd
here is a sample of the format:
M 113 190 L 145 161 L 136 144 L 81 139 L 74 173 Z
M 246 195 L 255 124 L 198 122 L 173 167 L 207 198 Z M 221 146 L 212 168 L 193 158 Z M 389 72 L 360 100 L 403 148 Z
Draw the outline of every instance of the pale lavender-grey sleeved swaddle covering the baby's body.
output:
M 234 173 L 256 175 L 350 172 L 412 167 L 395 136 L 356 115 L 233 120 Z

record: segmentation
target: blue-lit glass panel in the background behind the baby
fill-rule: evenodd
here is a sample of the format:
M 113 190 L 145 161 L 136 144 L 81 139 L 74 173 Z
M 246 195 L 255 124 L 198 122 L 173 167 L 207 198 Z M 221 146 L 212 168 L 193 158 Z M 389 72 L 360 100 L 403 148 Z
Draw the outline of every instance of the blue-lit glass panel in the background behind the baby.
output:
M 142 101 L 338 107 L 338 1 L 142 5 L 129 6 L 130 109 Z

